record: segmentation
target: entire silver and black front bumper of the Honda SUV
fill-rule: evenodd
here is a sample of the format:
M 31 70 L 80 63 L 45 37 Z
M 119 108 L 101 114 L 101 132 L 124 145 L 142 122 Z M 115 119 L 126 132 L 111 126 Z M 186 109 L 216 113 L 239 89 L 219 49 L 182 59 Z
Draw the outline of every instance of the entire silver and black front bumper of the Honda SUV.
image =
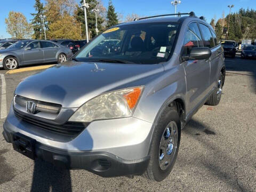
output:
M 11 141 L 13 133 L 36 140 L 35 155 L 57 166 L 85 169 L 103 177 L 142 174 L 148 165 L 152 124 L 128 117 L 91 122 L 75 138 L 22 121 L 10 113 L 4 123 L 4 138 Z M 108 169 L 100 163 L 106 161 Z M 103 163 L 104 164 L 104 163 Z

